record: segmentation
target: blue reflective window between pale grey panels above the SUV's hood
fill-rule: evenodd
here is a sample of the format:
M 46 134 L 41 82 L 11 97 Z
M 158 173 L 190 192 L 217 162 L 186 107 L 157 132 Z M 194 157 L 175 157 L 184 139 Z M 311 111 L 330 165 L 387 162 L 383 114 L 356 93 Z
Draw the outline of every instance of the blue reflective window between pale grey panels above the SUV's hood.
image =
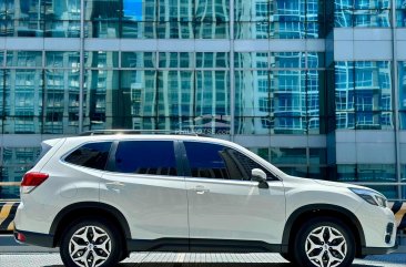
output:
M 393 129 L 390 62 L 336 62 L 335 68 L 337 129 Z

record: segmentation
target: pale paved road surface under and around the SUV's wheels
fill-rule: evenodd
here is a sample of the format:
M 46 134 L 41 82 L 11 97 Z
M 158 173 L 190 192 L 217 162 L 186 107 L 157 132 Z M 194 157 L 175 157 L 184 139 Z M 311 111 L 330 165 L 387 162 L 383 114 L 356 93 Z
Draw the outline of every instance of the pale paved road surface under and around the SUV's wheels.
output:
M 59 254 L 0 254 L 4 267 L 63 267 Z M 294 267 L 278 254 L 133 253 L 118 267 Z M 356 259 L 353 267 L 405 267 L 406 254 Z

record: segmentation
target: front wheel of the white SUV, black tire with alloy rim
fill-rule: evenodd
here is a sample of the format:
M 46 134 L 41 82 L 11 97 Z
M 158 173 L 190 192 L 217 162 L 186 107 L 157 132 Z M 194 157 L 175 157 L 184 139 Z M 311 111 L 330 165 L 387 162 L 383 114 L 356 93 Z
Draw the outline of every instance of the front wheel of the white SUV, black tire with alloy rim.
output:
M 294 260 L 302 267 L 344 267 L 355 257 L 355 239 L 349 228 L 332 217 L 305 223 L 295 238 Z

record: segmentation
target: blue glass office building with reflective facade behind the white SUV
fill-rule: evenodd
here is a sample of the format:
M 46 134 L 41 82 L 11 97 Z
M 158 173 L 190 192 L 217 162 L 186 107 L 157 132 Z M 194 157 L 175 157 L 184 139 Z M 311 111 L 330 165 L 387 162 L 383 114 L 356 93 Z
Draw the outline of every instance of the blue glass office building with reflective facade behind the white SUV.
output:
M 0 0 L 0 129 L 2 199 L 42 140 L 133 129 L 405 201 L 406 1 Z

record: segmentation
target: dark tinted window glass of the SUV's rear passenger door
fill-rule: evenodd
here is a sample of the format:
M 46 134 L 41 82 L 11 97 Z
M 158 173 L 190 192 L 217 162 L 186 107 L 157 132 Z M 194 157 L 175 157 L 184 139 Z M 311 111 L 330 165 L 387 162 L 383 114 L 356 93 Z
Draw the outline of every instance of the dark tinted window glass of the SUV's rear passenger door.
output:
M 177 175 L 172 141 L 121 141 L 114 165 L 120 173 Z

